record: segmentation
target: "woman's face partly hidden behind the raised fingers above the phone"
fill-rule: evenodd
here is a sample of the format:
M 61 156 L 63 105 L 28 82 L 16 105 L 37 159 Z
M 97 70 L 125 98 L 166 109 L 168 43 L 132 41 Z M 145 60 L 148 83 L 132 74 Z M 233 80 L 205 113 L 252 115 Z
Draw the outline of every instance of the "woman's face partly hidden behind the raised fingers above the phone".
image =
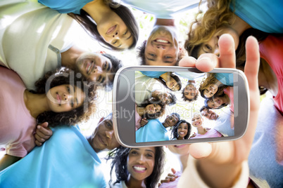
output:
M 232 27 L 220 27 L 216 30 L 215 34 L 211 37 L 209 41 L 201 45 L 198 57 L 203 53 L 213 53 L 219 56 L 218 40 L 220 36 L 225 33 L 230 34 L 233 37 L 235 42 L 235 50 L 237 50 L 239 46 L 239 34 L 237 34 L 237 32 L 232 29 Z

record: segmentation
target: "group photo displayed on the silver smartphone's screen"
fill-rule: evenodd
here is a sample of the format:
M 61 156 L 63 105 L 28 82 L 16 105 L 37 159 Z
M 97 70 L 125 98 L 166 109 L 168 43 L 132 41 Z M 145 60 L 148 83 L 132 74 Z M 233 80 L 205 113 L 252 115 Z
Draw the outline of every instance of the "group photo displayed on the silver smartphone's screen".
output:
M 134 71 L 134 101 L 135 142 L 234 136 L 233 73 Z

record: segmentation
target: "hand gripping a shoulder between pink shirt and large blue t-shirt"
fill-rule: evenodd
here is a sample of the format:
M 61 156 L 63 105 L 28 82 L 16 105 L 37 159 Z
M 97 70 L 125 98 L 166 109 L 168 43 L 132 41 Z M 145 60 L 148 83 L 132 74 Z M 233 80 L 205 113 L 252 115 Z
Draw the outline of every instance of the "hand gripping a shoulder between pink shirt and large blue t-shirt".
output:
M 44 122 L 37 126 L 37 130 L 35 130 L 35 144 L 37 146 L 41 146 L 46 140 L 49 140 L 51 135 L 53 134 L 51 128 L 49 128 L 48 123 Z

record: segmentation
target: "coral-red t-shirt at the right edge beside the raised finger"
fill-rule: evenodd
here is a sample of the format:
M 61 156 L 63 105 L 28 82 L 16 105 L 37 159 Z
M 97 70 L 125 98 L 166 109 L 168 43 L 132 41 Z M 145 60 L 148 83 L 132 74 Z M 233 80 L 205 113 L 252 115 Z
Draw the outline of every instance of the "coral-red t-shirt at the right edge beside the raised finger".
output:
M 278 93 L 273 97 L 275 107 L 283 115 L 283 36 L 268 36 L 259 45 L 260 58 L 265 59 L 277 77 Z

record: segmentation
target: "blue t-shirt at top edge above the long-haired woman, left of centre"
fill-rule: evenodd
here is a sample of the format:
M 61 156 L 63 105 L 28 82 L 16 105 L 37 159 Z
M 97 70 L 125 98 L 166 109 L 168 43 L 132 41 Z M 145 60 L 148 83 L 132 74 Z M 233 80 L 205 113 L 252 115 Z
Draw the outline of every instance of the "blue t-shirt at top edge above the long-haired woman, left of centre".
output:
M 59 13 L 80 14 L 80 9 L 94 0 L 38 0 L 39 3 L 48 6 Z

